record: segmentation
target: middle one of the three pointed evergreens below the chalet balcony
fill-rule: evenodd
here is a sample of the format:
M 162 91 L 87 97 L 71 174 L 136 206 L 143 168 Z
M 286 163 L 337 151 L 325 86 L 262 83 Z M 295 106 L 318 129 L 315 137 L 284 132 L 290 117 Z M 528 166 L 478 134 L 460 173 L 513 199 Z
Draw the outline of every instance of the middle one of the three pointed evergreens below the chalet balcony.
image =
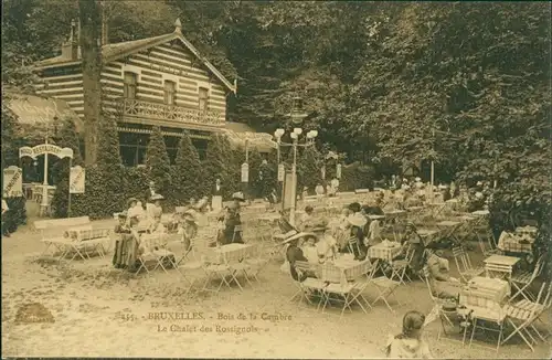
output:
M 187 202 L 190 198 L 198 199 L 203 194 L 204 179 L 203 167 L 201 166 L 198 150 L 192 144 L 188 133 L 180 138 L 172 184 L 177 199 Z

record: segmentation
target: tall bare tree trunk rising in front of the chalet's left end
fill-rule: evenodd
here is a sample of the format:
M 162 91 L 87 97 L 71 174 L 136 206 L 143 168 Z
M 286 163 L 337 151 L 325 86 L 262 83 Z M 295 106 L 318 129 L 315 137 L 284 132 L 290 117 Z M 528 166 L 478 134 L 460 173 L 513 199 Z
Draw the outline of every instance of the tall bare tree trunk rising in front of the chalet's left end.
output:
M 102 9 L 99 1 L 78 0 L 84 89 L 85 166 L 96 162 L 97 124 L 102 116 Z

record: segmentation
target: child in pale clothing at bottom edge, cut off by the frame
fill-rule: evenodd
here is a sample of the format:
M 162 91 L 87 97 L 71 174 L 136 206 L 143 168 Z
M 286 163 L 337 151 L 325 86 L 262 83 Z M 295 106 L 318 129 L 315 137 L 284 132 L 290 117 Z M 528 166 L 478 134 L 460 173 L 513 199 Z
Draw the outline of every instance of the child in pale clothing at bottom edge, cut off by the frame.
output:
M 422 339 L 425 315 L 408 311 L 403 318 L 403 330 L 390 339 L 386 356 L 390 359 L 433 359 L 429 347 Z

